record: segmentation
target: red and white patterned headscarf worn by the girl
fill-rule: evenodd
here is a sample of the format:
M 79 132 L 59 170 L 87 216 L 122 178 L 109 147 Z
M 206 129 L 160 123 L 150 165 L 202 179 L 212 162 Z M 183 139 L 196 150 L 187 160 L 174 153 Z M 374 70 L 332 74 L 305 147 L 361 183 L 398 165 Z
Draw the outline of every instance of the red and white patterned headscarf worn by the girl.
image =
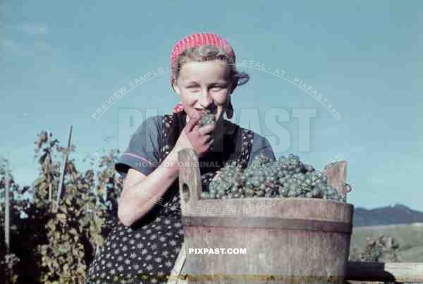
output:
M 176 58 L 185 49 L 189 49 L 191 47 L 200 47 L 202 45 L 214 45 L 216 47 L 221 47 L 226 50 L 228 53 L 228 56 L 231 56 L 233 58 L 233 63 L 235 63 L 235 52 L 233 51 L 231 44 L 226 39 L 223 39 L 220 35 L 216 34 L 209 34 L 209 33 L 197 33 L 188 35 L 187 37 L 184 37 L 183 39 L 180 39 L 179 42 L 175 44 L 175 46 L 172 49 L 171 53 L 171 83 L 175 79 L 175 65 L 176 65 Z M 173 112 L 180 112 L 183 111 L 183 105 L 182 103 L 176 104 L 176 106 L 173 107 Z

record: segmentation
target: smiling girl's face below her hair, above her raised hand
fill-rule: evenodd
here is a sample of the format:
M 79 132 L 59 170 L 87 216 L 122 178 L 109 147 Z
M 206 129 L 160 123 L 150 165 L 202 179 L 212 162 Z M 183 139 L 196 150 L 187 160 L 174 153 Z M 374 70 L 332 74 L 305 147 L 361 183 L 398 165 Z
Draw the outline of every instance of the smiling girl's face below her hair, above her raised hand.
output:
M 230 66 L 221 61 L 190 61 L 183 64 L 173 87 L 188 114 L 187 123 L 193 111 L 202 113 L 206 109 L 210 109 L 216 121 L 219 121 L 231 95 L 230 73 Z

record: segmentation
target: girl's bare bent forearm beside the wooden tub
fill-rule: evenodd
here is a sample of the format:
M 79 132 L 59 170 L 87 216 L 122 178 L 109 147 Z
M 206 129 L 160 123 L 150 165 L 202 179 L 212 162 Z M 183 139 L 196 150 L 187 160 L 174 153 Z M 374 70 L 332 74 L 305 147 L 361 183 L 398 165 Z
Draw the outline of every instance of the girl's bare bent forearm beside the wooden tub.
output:
M 119 202 L 121 222 L 130 226 L 145 216 L 156 204 L 164 204 L 164 193 L 178 178 L 178 153 L 172 151 L 144 180 L 125 180 L 125 195 Z

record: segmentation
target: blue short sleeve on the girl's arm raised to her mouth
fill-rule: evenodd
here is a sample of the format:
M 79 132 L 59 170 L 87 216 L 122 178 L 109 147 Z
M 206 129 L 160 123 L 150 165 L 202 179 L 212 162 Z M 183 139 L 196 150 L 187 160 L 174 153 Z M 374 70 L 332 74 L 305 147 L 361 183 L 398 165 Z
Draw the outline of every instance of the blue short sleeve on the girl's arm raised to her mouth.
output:
M 131 136 L 128 147 L 115 163 L 121 175 L 130 168 L 149 175 L 159 166 L 162 116 L 147 118 Z

